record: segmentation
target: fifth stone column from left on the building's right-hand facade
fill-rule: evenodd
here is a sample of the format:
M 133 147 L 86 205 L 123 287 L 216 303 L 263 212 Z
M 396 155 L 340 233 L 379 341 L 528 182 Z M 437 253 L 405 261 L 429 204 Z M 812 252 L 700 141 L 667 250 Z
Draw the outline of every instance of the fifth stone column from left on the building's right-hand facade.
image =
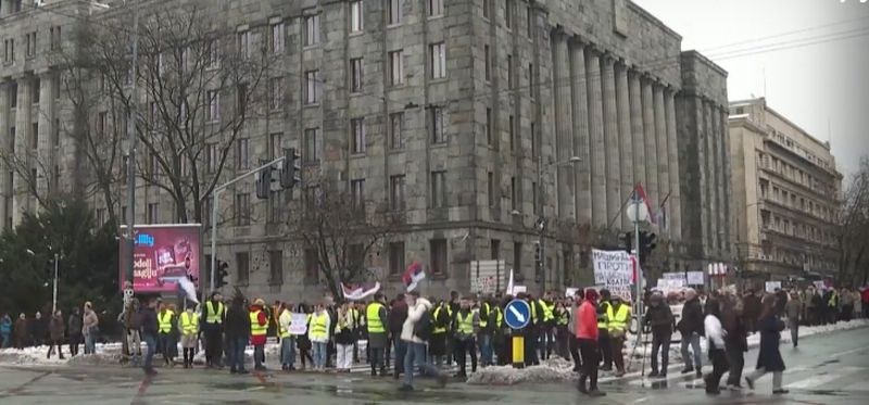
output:
M 621 202 L 633 190 L 633 138 L 631 136 L 631 102 L 628 90 L 628 67 L 616 66 L 616 104 L 618 104 L 619 162 L 621 190 L 617 203 Z M 621 229 L 631 229 L 627 215 L 621 215 Z

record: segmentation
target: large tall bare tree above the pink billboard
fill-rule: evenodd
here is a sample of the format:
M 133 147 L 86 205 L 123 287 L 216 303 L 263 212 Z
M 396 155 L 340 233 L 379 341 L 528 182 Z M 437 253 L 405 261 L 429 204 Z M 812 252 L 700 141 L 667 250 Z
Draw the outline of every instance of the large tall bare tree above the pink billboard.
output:
M 172 198 L 180 223 L 205 218 L 230 152 L 265 101 L 264 52 L 235 29 L 215 27 L 209 17 L 214 10 L 200 5 L 207 7 L 148 8 L 138 33 L 137 173 Z M 101 94 L 121 106 L 122 122 L 134 106 L 129 14 L 78 37 L 87 56 L 78 66 L 99 74 Z

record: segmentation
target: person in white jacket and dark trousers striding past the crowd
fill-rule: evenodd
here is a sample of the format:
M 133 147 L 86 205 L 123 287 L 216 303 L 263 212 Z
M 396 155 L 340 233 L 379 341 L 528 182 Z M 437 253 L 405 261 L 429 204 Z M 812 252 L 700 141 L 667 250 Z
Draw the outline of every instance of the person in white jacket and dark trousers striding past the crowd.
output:
M 424 315 L 428 321 L 432 321 L 429 311 L 431 311 L 431 303 L 423 298 L 419 293 L 411 291 L 407 293 L 407 319 L 401 328 L 401 340 L 407 343 L 407 353 L 404 356 L 404 384 L 399 388 L 399 391 L 413 391 L 414 389 L 414 364 L 419 364 L 426 374 L 436 376 L 441 387 L 446 384 L 446 375 L 442 374 L 437 367 L 426 359 L 426 340 L 427 337 L 419 337 L 416 334 L 416 324 L 423 319 Z

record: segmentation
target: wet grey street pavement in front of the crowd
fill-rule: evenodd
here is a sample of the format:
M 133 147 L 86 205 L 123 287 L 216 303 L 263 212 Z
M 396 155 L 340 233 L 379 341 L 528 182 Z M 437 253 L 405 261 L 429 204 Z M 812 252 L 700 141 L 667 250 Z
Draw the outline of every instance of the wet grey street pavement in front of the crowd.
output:
M 396 391 L 388 378 L 280 371 L 231 376 L 227 371 L 161 369 L 154 378 L 119 366 L 0 367 L 0 404 L 869 404 L 869 328 L 815 336 L 798 349 L 781 346 L 786 395 L 772 395 L 771 375 L 754 392 L 707 396 L 703 381 L 679 374 L 668 380 L 637 375 L 602 379 L 602 398 L 589 398 L 568 383 L 512 387 L 452 381 L 444 389 L 418 379 L 417 390 Z M 757 351 L 746 355 L 746 371 Z M 708 370 L 708 366 L 707 366 Z M 726 377 L 725 377 L 726 378 Z

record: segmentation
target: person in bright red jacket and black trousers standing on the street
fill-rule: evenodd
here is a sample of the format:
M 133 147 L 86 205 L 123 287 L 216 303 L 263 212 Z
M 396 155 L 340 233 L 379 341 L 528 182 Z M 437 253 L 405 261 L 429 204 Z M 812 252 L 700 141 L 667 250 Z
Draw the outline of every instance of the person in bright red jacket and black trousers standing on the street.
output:
M 597 290 L 587 289 L 585 300 L 579 305 L 579 315 L 576 316 L 577 341 L 582 356 L 582 372 L 579 375 L 579 391 L 590 396 L 604 396 L 597 390 L 597 364 L 601 362 L 597 347 Z M 589 387 L 585 388 L 585 380 Z

